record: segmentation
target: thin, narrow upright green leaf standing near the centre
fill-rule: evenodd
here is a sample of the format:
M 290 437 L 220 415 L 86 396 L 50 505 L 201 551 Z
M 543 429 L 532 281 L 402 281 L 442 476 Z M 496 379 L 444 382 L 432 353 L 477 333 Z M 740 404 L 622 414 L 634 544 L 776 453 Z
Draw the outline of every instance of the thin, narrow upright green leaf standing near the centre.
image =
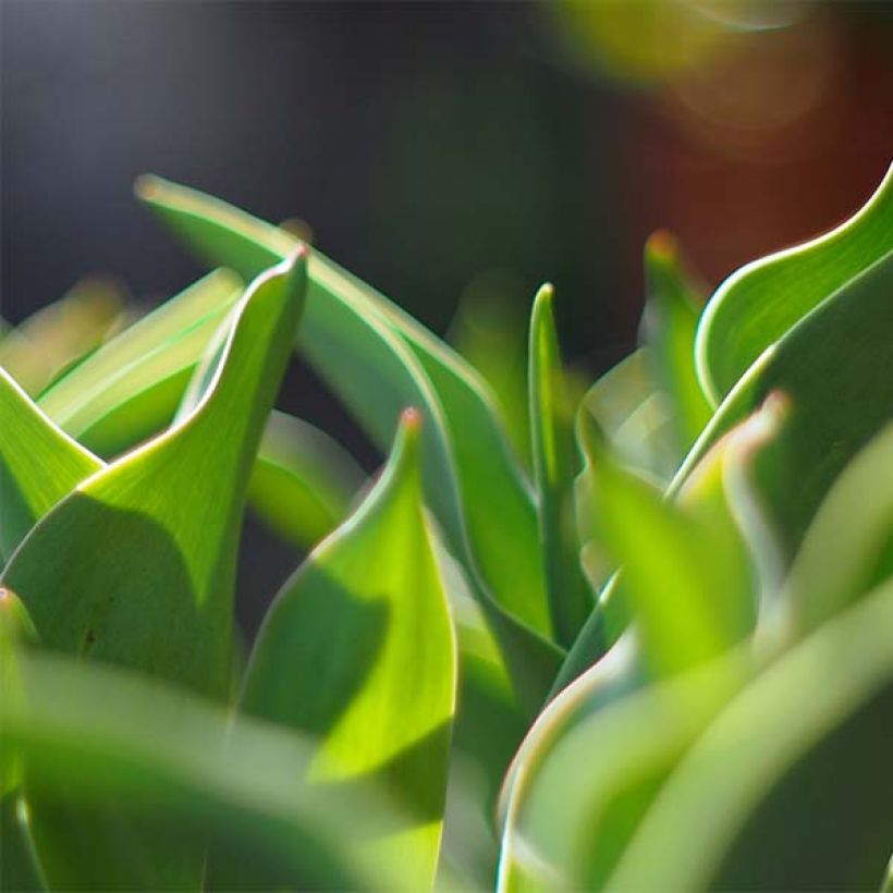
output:
M 586 620 L 591 602 L 580 573 L 579 543 L 574 529 L 577 461 L 573 412 L 564 387 L 552 294 L 551 285 L 540 289 L 530 318 L 530 442 L 552 628 L 556 639 L 567 647 Z

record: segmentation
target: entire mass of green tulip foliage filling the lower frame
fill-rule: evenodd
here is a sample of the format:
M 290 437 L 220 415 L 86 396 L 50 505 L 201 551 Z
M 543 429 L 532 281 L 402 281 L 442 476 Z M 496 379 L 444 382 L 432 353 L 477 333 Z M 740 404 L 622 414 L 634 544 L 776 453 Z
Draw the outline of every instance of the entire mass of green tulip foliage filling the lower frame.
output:
M 893 172 L 706 302 L 655 235 L 588 388 L 551 286 L 515 376 L 137 195 L 204 279 L 0 330 L 0 890 L 891 882 Z M 246 512 L 306 558 L 242 645 Z

